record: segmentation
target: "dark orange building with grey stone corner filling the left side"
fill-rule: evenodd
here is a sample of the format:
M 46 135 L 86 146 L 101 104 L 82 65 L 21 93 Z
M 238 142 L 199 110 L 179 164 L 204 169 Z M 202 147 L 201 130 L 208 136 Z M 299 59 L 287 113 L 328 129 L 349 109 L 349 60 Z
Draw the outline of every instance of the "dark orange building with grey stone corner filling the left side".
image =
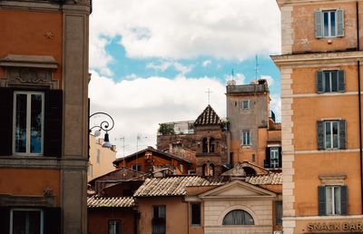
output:
M 90 12 L 1 1 L 1 233 L 86 233 Z

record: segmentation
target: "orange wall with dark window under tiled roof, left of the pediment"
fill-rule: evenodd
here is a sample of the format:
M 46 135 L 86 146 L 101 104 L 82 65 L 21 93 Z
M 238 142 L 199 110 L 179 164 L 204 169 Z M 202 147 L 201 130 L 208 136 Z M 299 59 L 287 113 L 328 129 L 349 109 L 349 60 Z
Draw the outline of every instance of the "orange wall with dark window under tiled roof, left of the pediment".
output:
M 182 197 L 156 197 L 138 198 L 139 231 L 142 234 L 152 234 L 152 206 L 166 206 L 166 233 L 184 234 L 188 233 L 187 205 Z

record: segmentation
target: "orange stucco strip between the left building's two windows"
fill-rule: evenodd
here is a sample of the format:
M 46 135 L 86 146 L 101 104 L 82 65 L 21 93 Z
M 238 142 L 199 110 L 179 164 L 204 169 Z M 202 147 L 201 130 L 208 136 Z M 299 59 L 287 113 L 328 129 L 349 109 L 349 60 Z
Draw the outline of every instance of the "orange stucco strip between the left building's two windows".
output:
M 44 196 L 44 189 L 52 189 L 60 205 L 61 175 L 50 169 L 2 169 L 0 170 L 0 194 L 13 196 Z

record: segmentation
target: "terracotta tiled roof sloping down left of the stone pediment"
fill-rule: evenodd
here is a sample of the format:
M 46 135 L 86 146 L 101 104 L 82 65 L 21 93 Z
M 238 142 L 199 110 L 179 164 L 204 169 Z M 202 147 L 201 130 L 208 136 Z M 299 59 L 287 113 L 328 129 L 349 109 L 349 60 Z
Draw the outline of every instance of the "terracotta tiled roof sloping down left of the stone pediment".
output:
M 208 180 L 200 176 L 173 176 L 146 179 L 135 191 L 134 197 L 183 196 L 187 186 L 221 185 L 219 179 Z

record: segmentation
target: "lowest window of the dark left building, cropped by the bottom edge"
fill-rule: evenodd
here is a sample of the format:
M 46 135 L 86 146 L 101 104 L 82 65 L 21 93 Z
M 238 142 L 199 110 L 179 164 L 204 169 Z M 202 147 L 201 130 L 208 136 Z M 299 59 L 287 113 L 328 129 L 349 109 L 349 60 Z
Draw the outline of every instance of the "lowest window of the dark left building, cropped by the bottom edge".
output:
M 43 211 L 13 209 L 10 212 L 10 233 L 43 234 Z

